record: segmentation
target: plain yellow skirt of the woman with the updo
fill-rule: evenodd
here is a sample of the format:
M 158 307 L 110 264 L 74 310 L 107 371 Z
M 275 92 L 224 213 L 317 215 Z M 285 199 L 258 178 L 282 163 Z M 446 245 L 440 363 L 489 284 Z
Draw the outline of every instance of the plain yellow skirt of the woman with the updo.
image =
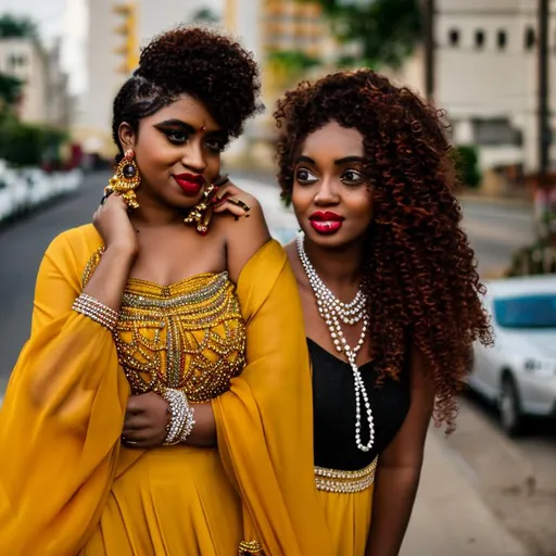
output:
M 112 488 L 84 556 L 227 556 L 242 540 L 241 502 L 215 448 L 150 450 Z

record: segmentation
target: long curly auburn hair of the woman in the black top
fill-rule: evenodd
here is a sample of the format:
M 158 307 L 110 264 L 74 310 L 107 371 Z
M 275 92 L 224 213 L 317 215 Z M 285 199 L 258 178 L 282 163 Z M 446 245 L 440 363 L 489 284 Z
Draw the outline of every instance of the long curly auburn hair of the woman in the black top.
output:
M 456 172 L 443 115 L 370 71 L 301 83 L 278 101 L 278 180 L 291 198 L 296 154 L 330 122 L 364 137 L 374 222 L 366 238 L 372 354 L 381 379 L 403 368 L 409 342 L 435 388 L 434 420 L 454 429 L 472 342 L 492 343 L 475 254 L 459 227 Z

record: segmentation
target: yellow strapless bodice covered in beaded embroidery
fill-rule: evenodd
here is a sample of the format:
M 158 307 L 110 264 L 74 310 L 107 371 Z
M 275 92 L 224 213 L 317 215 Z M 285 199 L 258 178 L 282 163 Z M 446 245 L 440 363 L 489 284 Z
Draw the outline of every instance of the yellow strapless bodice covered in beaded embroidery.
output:
M 175 388 L 206 402 L 245 365 L 245 327 L 227 273 L 165 287 L 129 279 L 114 340 L 135 394 Z

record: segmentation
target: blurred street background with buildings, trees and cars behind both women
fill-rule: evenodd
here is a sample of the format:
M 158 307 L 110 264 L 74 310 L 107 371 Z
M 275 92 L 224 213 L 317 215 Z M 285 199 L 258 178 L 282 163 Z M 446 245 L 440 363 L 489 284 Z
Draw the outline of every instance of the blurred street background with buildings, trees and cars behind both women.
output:
M 180 23 L 238 35 L 261 64 L 267 110 L 225 166 L 282 242 L 285 89 L 370 66 L 446 111 L 497 343 L 476 349 L 457 431 L 431 430 L 404 554 L 555 555 L 556 1 L 0 0 L 0 403 L 41 255 L 111 175 L 112 100 L 141 45 Z

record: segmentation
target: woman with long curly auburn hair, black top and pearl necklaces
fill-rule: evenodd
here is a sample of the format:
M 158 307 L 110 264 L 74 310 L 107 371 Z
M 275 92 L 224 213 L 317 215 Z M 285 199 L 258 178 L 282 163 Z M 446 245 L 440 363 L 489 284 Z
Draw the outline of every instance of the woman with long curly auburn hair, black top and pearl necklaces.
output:
M 452 150 L 432 108 L 370 70 L 302 83 L 275 117 L 334 554 L 395 555 L 430 417 L 453 430 L 471 344 L 491 341 Z

